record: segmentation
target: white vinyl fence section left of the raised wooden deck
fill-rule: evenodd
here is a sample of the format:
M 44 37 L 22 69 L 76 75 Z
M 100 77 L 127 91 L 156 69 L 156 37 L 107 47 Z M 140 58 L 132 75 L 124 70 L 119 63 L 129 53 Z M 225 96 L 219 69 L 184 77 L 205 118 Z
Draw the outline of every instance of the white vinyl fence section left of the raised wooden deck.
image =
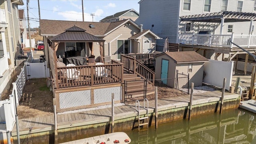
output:
M 50 77 L 50 69 L 47 67 L 47 62 L 30 63 L 25 62 L 27 80 L 31 78 L 47 78 Z

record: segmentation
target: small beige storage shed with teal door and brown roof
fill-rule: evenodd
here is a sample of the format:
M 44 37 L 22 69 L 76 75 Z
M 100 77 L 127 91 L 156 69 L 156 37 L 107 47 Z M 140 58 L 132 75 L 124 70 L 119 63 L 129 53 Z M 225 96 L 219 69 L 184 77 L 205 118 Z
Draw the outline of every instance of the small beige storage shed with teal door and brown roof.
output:
M 189 86 L 191 82 L 194 82 L 194 86 L 202 86 L 204 62 L 208 61 L 204 56 L 190 51 L 162 52 L 154 57 L 156 58 L 155 76 L 156 79 L 161 79 L 162 83 L 174 88 L 176 82 L 174 78 L 177 77 L 176 70 L 178 70 L 179 74 L 189 74 Z

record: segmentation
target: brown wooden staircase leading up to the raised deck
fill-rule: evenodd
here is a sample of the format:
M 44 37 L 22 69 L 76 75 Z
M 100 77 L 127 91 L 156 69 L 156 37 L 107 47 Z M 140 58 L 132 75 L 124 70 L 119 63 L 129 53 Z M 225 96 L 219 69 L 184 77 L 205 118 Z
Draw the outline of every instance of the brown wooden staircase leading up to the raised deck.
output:
M 143 97 L 154 94 L 154 86 L 137 74 L 124 74 L 125 99 Z M 146 93 L 146 94 L 145 94 Z

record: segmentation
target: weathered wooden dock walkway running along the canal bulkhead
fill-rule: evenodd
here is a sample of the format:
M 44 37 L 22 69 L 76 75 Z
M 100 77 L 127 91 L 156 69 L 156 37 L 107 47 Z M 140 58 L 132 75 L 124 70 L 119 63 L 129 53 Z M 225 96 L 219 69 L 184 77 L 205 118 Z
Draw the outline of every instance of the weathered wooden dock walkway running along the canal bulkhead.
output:
M 220 91 L 206 92 L 202 94 L 194 94 L 193 105 L 204 104 L 208 102 L 216 102 L 220 100 Z M 224 100 L 238 98 L 238 94 L 226 92 Z M 158 111 L 179 108 L 188 106 L 190 95 L 184 95 L 173 98 L 164 98 L 158 100 Z M 143 102 L 140 102 L 143 105 Z M 149 112 L 153 112 L 155 101 L 149 101 Z M 116 106 L 114 108 L 115 120 L 126 118 L 129 116 L 137 116 L 135 110 L 135 102 L 131 105 Z M 58 114 L 58 129 L 70 128 L 71 126 L 81 126 L 88 124 L 95 124 L 100 122 L 111 121 L 111 108 L 104 108 L 98 110 L 89 110 L 84 112 L 74 112 L 69 114 Z M 50 116 L 42 116 L 36 118 L 26 118 L 19 120 L 20 135 L 28 134 L 29 130 L 32 133 L 44 132 L 48 130 L 54 130 L 54 114 Z M 16 136 L 16 125 L 12 131 L 12 136 Z

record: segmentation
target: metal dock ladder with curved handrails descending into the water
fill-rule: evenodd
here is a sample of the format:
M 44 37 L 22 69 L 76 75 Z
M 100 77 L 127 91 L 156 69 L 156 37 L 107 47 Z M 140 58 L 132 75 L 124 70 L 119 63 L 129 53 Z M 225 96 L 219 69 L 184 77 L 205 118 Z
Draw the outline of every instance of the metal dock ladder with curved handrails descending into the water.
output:
M 145 108 L 145 102 L 147 101 L 147 107 Z M 138 110 L 137 110 L 137 103 L 138 103 Z M 146 109 L 147 113 L 145 114 L 146 116 L 144 117 L 140 117 L 140 102 L 139 100 L 136 100 L 136 106 L 135 106 L 136 110 L 138 111 L 138 130 L 140 131 L 140 126 L 144 126 L 147 125 L 147 129 L 148 129 L 148 99 L 144 99 L 144 110 Z M 146 121 L 146 122 L 145 122 Z

